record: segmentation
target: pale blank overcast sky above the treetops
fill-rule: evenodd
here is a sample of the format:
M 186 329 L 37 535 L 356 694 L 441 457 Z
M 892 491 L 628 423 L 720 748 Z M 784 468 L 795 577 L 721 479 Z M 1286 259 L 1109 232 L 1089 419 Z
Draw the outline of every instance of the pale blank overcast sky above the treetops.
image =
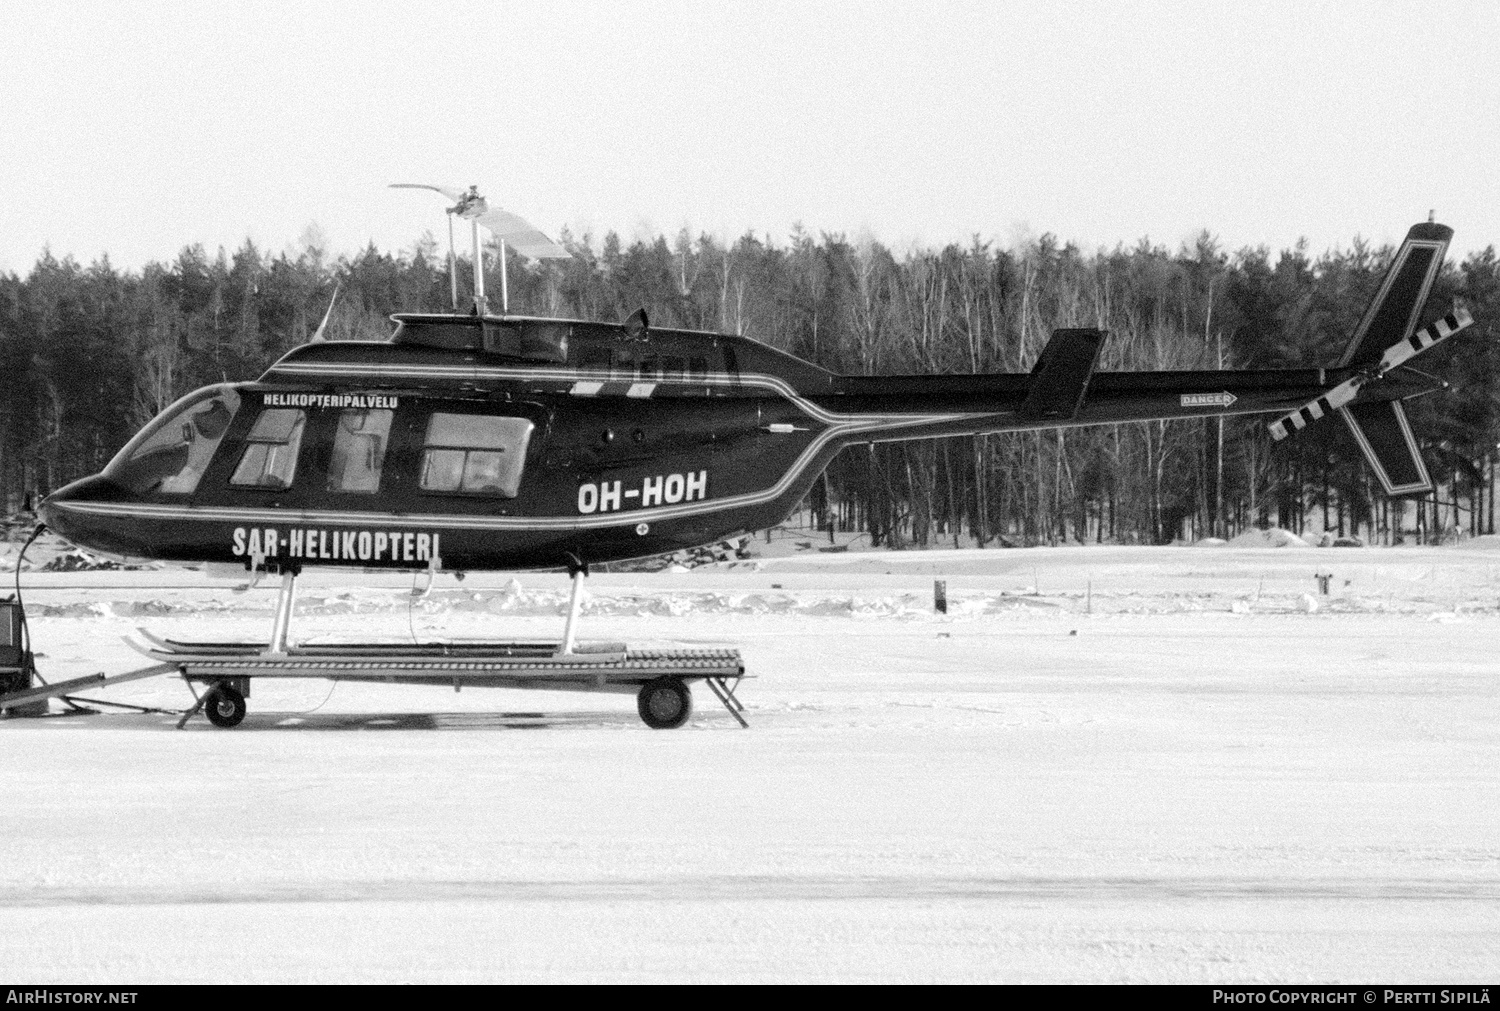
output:
M 246 237 L 1500 244 L 1496 3 L 15 4 L 0 268 Z

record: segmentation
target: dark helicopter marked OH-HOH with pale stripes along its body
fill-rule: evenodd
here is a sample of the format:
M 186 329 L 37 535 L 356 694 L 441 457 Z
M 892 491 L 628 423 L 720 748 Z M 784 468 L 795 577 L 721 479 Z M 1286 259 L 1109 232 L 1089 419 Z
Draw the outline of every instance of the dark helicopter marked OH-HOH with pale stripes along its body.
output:
M 322 340 L 320 327 L 260 378 L 182 398 L 100 474 L 39 507 L 46 526 L 105 555 L 280 573 L 267 657 L 288 656 L 294 579 L 318 567 L 566 568 L 567 630 L 548 656 L 574 656 L 591 564 L 782 522 L 834 456 L 861 444 L 1245 414 L 1276 416 L 1281 440 L 1336 412 L 1388 495 L 1420 494 L 1432 483 L 1402 400 L 1442 384 L 1407 362 L 1473 322 L 1455 308 L 1418 327 L 1454 234 L 1430 219 L 1412 226 L 1330 366 L 1100 372 L 1106 332 L 1059 328 L 1029 374 L 837 375 L 747 336 L 654 327 L 645 309 L 622 322 L 512 315 L 506 244 L 534 258 L 568 250 L 476 188 L 396 186 L 454 201 L 453 312 L 398 312 L 384 342 Z M 453 219 L 472 230 L 470 312 L 456 308 Z M 482 225 L 501 243 L 494 314 Z M 153 658 L 178 658 L 154 646 Z M 232 669 L 200 670 L 208 716 L 226 726 L 243 716 L 250 676 Z M 732 664 L 714 690 L 734 712 L 726 676 Z M 656 710 L 648 682 L 670 696 Z M 652 726 L 690 708 L 680 672 L 615 690 L 639 692 Z

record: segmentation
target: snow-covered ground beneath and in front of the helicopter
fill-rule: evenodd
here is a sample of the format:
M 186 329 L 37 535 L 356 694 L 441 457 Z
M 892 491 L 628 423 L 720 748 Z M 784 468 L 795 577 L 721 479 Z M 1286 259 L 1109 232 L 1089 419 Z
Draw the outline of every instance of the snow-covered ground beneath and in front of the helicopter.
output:
M 303 584 L 304 639 L 552 638 L 567 590 Z M 135 626 L 262 638 L 274 598 L 183 570 L 24 585 L 50 680 L 141 666 Z M 322 681 L 256 682 L 234 730 L 9 720 L 0 975 L 1500 970 L 1494 546 L 801 550 L 590 591 L 590 638 L 740 645 L 752 729 L 702 687 L 658 732 L 628 696 Z M 189 699 L 168 678 L 102 698 Z

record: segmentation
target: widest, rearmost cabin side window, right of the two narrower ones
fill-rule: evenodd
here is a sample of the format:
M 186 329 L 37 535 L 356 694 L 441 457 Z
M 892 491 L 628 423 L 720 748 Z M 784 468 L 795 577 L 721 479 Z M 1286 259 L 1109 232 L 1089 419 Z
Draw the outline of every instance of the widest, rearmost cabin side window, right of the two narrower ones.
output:
M 514 498 L 531 428 L 520 417 L 434 414 L 422 450 L 422 489 Z

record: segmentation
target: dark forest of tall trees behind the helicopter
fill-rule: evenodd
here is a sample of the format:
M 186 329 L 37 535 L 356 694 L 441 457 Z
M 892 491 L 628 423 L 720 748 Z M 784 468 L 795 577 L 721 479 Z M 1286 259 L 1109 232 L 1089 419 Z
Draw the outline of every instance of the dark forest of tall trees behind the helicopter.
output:
M 1052 236 L 900 255 L 801 230 L 783 243 L 561 238 L 570 261 L 508 256 L 513 314 L 624 320 L 645 308 L 652 326 L 740 333 L 864 375 L 1026 372 L 1054 327 L 1074 326 L 1110 332 L 1102 370 L 1332 364 L 1394 255 L 1359 238 L 1318 256 L 1305 243 L 1228 252 L 1208 232 L 1176 250 L 1143 240 L 1094 254 Z M 326 336 L 382 340 L 392 312 L 448 310 L 447 256 L 424 236 L 399 254 L 328 258 L 309 228 L 276 255 L 192 246 L 120 272 L 44 254 L 24 278 L 0 274 L 0 506 L 27 510 L 99 471 L 183 393 L 260 375 L 309 338 L 334 288 Z M 1336 420 L 1272 442 L 1266 417 L 1194 418 L 850 448 L 806 519 L 892 548 L 1167 543 L 1269 525 L 1374 543 L 1494 532 L 1492 246 L 1444 267 L 1424 322 L 1455 302 L 1476 326 L 1414 363 L 1452 388 L 1408 405 L 1431 495 L 1383 500 Z

